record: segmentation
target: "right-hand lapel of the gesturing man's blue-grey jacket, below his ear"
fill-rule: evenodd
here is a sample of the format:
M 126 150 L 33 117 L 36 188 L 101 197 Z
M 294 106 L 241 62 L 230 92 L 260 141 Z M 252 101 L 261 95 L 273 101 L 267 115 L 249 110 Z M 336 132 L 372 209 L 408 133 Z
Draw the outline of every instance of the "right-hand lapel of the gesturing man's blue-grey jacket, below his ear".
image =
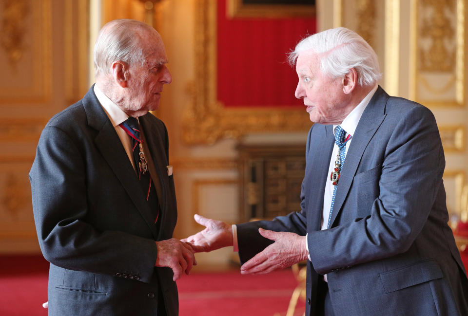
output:
M 336 189 L 330 227 L 332 227 L 334 220 L 341 211 L 364 150 L 386 116 L 385 105 L 388 99 L 389 95 L 379 87 L 362 113 L 354 135 L 352 135 L 351 145 L 346 154 L 343 171 Z

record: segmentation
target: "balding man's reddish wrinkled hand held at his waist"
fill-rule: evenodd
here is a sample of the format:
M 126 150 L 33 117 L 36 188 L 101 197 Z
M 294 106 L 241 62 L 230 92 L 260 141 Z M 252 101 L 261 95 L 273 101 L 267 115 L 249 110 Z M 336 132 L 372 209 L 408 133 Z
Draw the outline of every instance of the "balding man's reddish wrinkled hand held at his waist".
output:
M 180 279 L 182 273 L 189 274 L 193 265 L 196 265 L 194 250 L 188 243 L 176 238 L 156 242 L 156 267 L 169 267 L 174 272 L 173 280 Z

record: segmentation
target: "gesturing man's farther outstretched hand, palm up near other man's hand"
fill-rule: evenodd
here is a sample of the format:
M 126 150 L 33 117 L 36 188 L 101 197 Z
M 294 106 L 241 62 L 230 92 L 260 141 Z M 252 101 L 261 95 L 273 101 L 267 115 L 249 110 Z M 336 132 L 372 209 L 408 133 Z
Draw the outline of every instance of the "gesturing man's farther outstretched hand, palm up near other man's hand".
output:
M 209 252 L 233 245 L 233 228 L 231 225 L 198 214 L 195 214 L 194 218 L 196 223 L 206 228 L 195 235 L 182 239 L 182 242 L 190 243 L 195 252 Z

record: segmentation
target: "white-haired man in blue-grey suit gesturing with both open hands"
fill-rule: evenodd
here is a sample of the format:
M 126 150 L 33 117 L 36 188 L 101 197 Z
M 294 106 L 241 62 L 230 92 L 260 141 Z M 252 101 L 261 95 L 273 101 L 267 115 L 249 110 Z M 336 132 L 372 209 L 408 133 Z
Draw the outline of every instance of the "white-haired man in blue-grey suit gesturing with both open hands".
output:
M 468 279 L 448 222 L 432 113 L 377 86 L 377 56 L 346 28 L 290 55 L 315 124 L 301 210 L 233 227 L 198 215 L 196 251 L 238 247 L 241 272 L 307 259 L 306 315 L 466 316 Z

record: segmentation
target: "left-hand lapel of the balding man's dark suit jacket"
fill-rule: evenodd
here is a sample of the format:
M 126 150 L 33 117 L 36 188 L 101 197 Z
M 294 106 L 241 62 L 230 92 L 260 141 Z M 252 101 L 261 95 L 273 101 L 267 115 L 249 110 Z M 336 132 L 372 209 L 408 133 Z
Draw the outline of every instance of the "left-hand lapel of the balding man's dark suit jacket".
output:
M 94 86 L 93 86 L 94 87 Z M 98 130 L 95 138 L 96 147 L 101 152 L 120 184 L 127 191 L 141 216 L 145 219 L 154 238 L 157 238 L 156 225 L 150 207 L 145 202 L 146 197 L 141 190 L 135 169 L 128 160 L 127 153 L 121 145 L 117 132 L 112 126 L 107 114 L 99 104 L 93 87 L 83 98 L 83 106 L 88 117 L 88 125 Z

